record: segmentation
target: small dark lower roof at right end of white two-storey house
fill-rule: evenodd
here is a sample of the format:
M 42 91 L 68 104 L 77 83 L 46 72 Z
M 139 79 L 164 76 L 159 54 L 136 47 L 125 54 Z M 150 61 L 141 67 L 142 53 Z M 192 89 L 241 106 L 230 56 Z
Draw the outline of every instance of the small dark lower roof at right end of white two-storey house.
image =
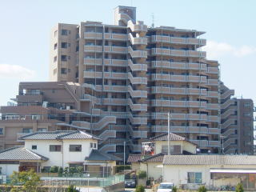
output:
M 99 150 L 92 150 L 89 157 L 85 158 L 86 161 L 122 161 L 122 158 L 118 158 L 112 154 L 105 154 Z

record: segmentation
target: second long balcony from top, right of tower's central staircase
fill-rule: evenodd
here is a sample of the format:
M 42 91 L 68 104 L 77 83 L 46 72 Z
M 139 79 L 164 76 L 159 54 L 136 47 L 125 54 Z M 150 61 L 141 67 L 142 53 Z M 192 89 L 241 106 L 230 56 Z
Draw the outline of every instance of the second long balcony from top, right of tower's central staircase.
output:
M 152 48 L 152 55 L 166 55 L 176 57 L 206 58 L 206 51 L 198 50 L 170 50 L 165 48 Z

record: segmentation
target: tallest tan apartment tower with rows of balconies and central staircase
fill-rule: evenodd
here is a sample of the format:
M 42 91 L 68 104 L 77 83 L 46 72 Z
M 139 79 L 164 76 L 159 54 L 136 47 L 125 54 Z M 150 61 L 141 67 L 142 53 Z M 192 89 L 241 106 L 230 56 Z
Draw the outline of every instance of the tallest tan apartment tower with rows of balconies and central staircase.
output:
M 108 152 L 122 153 L 124 142 L 139 152 L 144 139 L 167 132 L 170 112 L 173 133 L 197 143 L 202 153 L 218 153 L 218 62 L 206 60 L 202 34 L 148 27 L 130 6 L 115 8 L 114 25 L 58 24 L 51 36 L 50 81 L 83 87 L 78 110 L 84 118 L 72 125 L 105 133 Z

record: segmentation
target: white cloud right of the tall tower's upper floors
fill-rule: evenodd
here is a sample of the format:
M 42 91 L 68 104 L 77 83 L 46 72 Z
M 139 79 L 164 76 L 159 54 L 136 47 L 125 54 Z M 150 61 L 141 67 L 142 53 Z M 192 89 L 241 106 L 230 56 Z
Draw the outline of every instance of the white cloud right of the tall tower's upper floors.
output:
M 207 45 L 202 48 L 207 51 L 207 58 L 218 59 L 218 57 L 226 54 L 242 58 L 250 54 L 256 54 L 254 46 L 231 46 L 226 42 L 207 41 Z

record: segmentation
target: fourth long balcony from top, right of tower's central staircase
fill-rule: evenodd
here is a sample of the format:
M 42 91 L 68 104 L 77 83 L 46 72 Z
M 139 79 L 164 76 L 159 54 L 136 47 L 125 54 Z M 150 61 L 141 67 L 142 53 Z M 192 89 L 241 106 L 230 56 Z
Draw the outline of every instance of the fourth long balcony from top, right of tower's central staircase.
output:
M 166 82 L 202 82 L 206 83 L 205 76 L 194 75 L 175 75 L 175 74 L 151 74 L 152 81 L 166 81 Z

